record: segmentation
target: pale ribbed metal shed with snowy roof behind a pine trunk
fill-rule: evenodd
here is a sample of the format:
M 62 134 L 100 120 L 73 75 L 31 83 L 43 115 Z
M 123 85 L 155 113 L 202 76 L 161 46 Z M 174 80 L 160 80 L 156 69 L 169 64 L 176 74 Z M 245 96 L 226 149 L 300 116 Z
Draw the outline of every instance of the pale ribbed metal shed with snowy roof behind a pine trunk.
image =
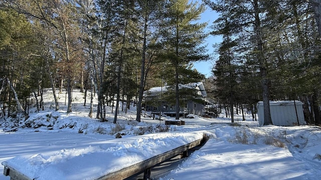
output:
M 272 123 L 274 125 L 284 125 L 290 126 L 297 124 L 297 119 L 299 120 L 299 124 L 305 124 L 304 115 L 303 115 L 303 103 L 296 100 L 295 107 L 293 101 L 270 101 L 270 113 Z M 263 125 L 264 123 L 264 109 L 263 102 L 260 101 L 257 103 L 258 116 L 259 116 L 259 124 Z M 297 118 L 296 118 L 297 114 Z

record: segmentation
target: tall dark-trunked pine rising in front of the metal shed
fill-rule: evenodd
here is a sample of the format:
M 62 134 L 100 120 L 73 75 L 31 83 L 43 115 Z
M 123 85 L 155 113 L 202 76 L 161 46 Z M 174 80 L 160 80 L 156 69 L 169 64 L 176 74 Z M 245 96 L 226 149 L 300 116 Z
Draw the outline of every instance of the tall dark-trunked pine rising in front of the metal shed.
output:
M 260 65 L 260 74 L 262 78 L 262 98 L 264 107 L 264 124 L 272 124 L 270 115 L 270 89 L 268 78 L 268 58 L 263 48 L 264 26 L 270 25 L 266 19 L 266 14 L 269 12 L 269 8 L 273 7 L 273 4 L 264 2 L 263 0 L 221 0 L 212 2 L 205 0 L 206 3 L 217 12 L 220 13 L 220 17 L 216 20 L 217 23 L 224 22 L 226 17 L 229 17 L 231 21 L 235 23 L 236 28 L 246 29 L 245 32 L 251 39 L 247 39 L 252 44 L 252 51 L 256 54 L 257 63 Z M 269 1 L 270 2 L 270 1 Z M 267 8 L 268 5 L 271 7 Z M 243 32 L 244 32 L 243 31 Z M 237 34 L 234 34 L 237 35 Z M 244 50 L 244 51 L 248 51 Z

